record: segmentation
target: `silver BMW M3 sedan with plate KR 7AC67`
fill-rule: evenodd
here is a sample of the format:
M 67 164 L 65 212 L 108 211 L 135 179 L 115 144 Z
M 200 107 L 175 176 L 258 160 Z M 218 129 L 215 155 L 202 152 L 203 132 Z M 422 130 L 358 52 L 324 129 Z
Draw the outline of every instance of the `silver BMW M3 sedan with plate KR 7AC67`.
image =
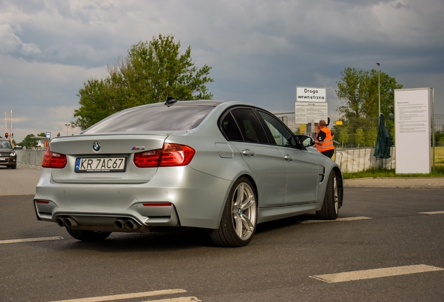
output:
M 316 212 L 334 220 L 339 166 L 272 113 L 233 101 L 168 101 L 122 110 L 52 139 L 34 207 L 78 240 L 158 227 L 208 229 L 247 245 L 257 224 Z

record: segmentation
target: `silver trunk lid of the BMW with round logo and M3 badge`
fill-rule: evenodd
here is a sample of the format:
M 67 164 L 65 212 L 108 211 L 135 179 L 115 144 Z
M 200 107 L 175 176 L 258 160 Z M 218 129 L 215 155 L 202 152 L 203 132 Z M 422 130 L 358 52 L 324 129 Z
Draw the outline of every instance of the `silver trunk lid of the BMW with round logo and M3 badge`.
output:
M 66 155 L 64 168 L 52 168 L 54 182 L 68 183 L 143 183 L 149 182 L 156 174 L 157 168 L 138 168 L 133 163 L 135 153 L 161 149 L 168 134 L 109 134 L 109 135 L 80 135 L 54 138 L 50 143 L 52 152 Z M 80 168 L 80 163 L 111 163 L 119 159 L 119 171 L 109 171 L 100 166 L 92 169 Z M 87 164 L 84 164 L 87 166 Z M 83 167 L 84 168 L 84 167 Z M 91 166 L 90 166 L 91 168 Z

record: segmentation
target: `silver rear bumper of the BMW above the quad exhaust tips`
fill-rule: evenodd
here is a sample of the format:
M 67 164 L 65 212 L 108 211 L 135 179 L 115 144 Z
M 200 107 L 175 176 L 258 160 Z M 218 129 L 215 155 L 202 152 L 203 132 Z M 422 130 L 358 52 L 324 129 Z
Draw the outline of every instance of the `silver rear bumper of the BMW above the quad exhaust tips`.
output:
M 154 178 L 141 184 L 57 183 L 51 169 L 42 168 L 34 207 L 39 220 L 72 217 L 78 224 L 73 229 L 109 227 L 116 220 L 133 220 L 139 227 L 217 229 L 231 185 L 189 166 L 158 168 Z

